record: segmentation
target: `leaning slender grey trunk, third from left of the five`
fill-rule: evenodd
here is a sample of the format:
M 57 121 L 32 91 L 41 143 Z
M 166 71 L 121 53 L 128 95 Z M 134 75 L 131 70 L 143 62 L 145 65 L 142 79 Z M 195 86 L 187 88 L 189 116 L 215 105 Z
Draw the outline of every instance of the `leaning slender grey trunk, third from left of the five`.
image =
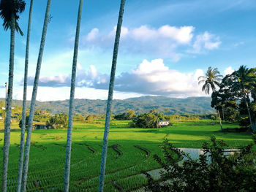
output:
M 45 47 L 45 37 L 46 37 L 49 15 L 50 15 L 50 1 L 51 0 L 48 0 L 47 7 L 46 7 L 44 26 L 42 28 L 42 37 L 41 37 L 41 43 L 40 43 L 39 54 L 37 59 L 37 69 L 34 77 L 34 87 L 33 87 L 31 106 L 30 106 L 30 112 L 29 112 L 29 125 L 27 128 L 27 136 L 26 136 L 26 148 L 25 148 L 25 159 L 23 164 L 21 191 L 26 191 L 26 179 L 28 176 L 28 169 L 29 169 L 29 150 L 30 150 L 30 141 L 31 141 L 31 130 L 33 126 L 34 107 L 37 99 L 37 87 L 38 87 L 39 74 L 40 74 L 40 69 L 42 64 L 42 55 Z

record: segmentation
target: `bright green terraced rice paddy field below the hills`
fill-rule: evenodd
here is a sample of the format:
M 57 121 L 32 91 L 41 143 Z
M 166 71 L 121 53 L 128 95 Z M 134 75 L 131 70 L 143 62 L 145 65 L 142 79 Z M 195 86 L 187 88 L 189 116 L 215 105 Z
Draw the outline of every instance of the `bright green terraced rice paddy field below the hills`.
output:
M 133 191 L 141 188 L 146 183 L 146 177 L 140 173 L 159 168 L 153 155 L 162 155 L 159 145 L 166 136 L 176 147 L 200 148 L 212 135 L 225 140 L 232 148 L 252 142 L 249 133 L 221 133 L 218 123 L 209 120 L 176 122 L 173 126 L 159 130 L 129 128 L 128 123 L 125 120 L 113 120 L 110 124 L 105 191 Z M 238 127 L 233 124 L 223 126 Z M 103 121 L 73 124 L 70 191 L 97 191 L 103 131 Z M 67 129 L 32 132 L 27 191 L 62 191 L 66 139 Z M 2 148 L 2 130 L 0 140 Z M 9 191 L 15 191 L 19 144 L 20 130 L 16 128 L 11 131 Z

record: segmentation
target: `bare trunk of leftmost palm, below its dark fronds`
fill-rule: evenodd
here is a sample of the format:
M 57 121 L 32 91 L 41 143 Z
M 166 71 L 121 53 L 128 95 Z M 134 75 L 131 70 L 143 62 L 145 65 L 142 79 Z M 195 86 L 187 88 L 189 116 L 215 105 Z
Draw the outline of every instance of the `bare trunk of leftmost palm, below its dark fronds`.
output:
M 9 83 L 6 104 L 6 118 L 4 121 L 4 155 L 3 155 L 3 173 L 2 173 L 2 191 L 7 191 L 7 171 L 10 147 L 10 131 L 11 131 L 11 112 L 12 112 L 12 85 L 13 85 L 13 68 L 15 53 L 15 16 L 12 14 L 11 38 L 10 38 L 10 65 L 9 65 Z

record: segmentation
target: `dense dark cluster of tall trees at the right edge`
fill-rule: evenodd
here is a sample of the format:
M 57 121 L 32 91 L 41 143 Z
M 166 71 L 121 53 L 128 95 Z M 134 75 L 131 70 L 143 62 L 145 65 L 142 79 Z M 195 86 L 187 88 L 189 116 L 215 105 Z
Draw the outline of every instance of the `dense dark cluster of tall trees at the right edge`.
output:
M 227 74 L 211 99 L 211 107 L 219 112 L 222 120 L 238 122 L 241 128 L 256 131 L 256 68 L 240 66 Z

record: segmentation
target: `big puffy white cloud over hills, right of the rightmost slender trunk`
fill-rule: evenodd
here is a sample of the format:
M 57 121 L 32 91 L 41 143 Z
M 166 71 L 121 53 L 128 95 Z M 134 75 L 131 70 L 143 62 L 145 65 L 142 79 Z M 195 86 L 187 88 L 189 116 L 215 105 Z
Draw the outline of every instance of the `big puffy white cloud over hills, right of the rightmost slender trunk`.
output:
M 203 70 L 193 73 L 181 73 L 169 69 L 162 59 L 144 60 L 131 73 L 121 74 L 116 78 L 118 88 L 155 95 L 165 96 L 199 96 L 202 95 L 197 85 L 197 77 Z M 118 89 L 119 90 L 119 89 Z

